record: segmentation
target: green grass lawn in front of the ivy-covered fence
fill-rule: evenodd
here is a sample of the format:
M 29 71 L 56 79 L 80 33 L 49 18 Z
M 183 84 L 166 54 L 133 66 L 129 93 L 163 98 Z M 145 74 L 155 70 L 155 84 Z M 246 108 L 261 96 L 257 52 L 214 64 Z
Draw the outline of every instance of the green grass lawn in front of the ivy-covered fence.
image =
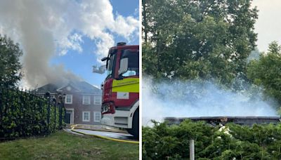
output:
M 1 142 L 0 159 L 138 159 L 138 145 L 58 131 Z

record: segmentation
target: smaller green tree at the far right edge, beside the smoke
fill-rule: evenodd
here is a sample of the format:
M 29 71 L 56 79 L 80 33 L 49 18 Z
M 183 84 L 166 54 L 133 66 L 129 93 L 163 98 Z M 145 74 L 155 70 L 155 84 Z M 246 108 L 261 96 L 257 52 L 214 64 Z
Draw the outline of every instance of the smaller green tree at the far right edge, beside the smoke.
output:
M 281 104 L 281 46 L 277 41 L 269 44 L 268 52 L 261 54 L 259 60 L 249 62 L 247 76 Z

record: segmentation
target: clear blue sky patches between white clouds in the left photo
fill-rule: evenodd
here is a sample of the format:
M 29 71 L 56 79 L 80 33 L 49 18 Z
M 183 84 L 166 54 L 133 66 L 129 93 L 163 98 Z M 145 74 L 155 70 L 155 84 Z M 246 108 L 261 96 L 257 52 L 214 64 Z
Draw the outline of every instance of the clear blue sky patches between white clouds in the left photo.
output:
M 124 17 L 133 16 L 133 18 L 138 19 L 138 1 L 134 0 L 122 0 L 122 1 L 110 1 L 113 8 L 113 14 L 116 18 L 117 15 L 122 15 Z M 115 33 L 112 33 L 114 36 L 115 44 L 119 41 L 128 41 L 123 37 L 119 36 Z M 105 74 L 96 74 L 92 72 L 93 65 L 100 65 L 97 62 L 97 55 L 95 51 L 97 51 L 96 41 L 89 39 L 86 36 L 82 36 L 83 43 L 81 43 L 82 51 L 79 53 L 78 51 L 68 50 L 67 54 L 59 55 L 55 54 L 53 58 L 51 58 L 50 65 L 60 65 L 63 64 L 65 69 L 68 71 L 77 74 L 82 79 L 87 81 L 89 84 L 93 84 L 95 86 L 100 86 L 102 81 L 105 79 Z M 128 44 L 139 44 L 139 39 L 137 35 L 131 37 Z

